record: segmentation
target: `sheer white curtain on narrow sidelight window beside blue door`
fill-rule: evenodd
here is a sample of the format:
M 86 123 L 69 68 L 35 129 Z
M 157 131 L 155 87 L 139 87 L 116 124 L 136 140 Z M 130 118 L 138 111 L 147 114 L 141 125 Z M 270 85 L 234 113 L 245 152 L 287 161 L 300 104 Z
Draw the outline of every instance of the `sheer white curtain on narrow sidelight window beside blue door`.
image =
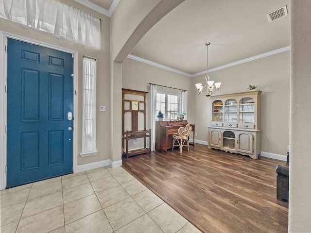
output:
M 83 127 L 81 156 L 97 154 L 96 150 L 96 60 L 83 58 Z

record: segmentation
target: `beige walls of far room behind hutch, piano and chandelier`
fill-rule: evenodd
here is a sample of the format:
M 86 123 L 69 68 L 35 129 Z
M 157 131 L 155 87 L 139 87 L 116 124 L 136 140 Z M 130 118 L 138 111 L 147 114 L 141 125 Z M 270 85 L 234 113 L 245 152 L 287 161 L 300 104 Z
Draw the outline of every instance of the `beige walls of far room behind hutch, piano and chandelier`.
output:
M 290 52 L 228 67 L 210 73 L 222 82 L 221 91 L 214 95 L 247 91 L 248 83 L 258 85 L 261 94 L 261 151 L 286 155 L 289 145 Z M 196 139 L 207 142 L 210 125 L 209 98 L 198 95 L 195 83 L 205 75 L 189 78 L 132 59 L 122 64 L 122 87 L 149 91 L 147 83 L 167 85 L 188 90 L 188 122 L 195 124 Z

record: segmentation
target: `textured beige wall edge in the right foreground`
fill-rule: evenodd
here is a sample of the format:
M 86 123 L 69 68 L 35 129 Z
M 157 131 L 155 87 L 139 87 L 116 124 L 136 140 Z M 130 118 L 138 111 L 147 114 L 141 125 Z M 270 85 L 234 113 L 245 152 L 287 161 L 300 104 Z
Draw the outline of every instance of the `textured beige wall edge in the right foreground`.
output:
M 291 1 L 289 232 L 311 232 L 311 1 Z

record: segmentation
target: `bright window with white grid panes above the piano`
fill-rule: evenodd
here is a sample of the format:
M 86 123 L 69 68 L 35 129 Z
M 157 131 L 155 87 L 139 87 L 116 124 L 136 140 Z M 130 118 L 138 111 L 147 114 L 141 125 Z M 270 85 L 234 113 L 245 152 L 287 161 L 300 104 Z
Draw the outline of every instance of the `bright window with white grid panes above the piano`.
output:
M 181 95 L 157 92 L 155 114 L 161 111 L 164 115 L 164 120 L 176 120 L 181 112 Z

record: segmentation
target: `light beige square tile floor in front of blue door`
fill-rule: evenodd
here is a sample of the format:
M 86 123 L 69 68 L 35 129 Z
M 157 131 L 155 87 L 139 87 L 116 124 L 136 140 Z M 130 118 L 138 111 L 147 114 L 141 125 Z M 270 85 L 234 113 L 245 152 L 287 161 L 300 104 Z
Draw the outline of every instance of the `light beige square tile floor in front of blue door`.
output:
M 0 233 L 200 233 L 122 167 L 0 191 Z

